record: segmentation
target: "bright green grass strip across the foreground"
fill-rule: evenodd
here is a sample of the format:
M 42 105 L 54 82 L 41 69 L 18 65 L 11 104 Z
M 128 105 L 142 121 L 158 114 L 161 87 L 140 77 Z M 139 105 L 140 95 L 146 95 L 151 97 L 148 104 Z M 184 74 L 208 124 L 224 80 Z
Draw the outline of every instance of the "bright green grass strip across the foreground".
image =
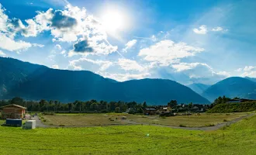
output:
M 0 127 L 0 154 L 254 154 L 255 152 L 256 116 L 213 132 L 141 125 L 33 130 Z

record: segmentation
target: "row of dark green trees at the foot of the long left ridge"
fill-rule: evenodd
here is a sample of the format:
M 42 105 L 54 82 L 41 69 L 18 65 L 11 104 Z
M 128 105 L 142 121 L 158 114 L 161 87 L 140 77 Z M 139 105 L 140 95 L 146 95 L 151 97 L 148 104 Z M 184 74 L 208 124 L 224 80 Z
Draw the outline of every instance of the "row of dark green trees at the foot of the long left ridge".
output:
M 147 103 L 137 102 L 106 102 L 90 100 L 86 102 L 75 101 L 61 103 L 54 100 L 26 101 L 22 98 L 12 98 L 10 100 L 0 100 L 0 106 L 22 105 L 28 112 L 126 112 L 131 109 L 133 112 L 142 112 L 141 108 L 147 107 Z

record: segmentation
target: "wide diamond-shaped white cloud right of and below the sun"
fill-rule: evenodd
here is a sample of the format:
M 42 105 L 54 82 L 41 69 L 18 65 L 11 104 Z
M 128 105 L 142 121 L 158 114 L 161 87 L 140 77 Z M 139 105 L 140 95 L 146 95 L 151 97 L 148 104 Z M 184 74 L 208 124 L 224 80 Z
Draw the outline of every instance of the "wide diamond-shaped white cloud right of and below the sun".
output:
M 204 49 L 192 47 L 186 43 L 175 43 L 171 40 L 162 40 L 154 45 L 141 49 L 138 55 L 144 60 L 157 62 L 163 66 L 179 61 L 184 57 L 192 57 Z

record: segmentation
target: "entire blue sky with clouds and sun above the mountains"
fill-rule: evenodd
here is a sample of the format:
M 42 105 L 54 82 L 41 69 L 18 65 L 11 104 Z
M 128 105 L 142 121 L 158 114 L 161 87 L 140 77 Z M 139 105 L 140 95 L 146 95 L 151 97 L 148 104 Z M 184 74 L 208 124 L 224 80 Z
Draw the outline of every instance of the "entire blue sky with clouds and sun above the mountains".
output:
M 116 81 L 256 77 L 254 0 L 1 0 L 0 57 Z

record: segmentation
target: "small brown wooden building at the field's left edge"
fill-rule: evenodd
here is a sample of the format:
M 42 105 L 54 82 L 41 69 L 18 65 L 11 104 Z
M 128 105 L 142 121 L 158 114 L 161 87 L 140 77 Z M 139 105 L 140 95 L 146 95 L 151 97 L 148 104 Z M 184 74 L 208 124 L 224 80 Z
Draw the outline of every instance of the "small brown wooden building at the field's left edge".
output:
M 5 105 L 0 107 L 3 119 L 22 119 L 25 116 L 26 108 L 21 105 Z

